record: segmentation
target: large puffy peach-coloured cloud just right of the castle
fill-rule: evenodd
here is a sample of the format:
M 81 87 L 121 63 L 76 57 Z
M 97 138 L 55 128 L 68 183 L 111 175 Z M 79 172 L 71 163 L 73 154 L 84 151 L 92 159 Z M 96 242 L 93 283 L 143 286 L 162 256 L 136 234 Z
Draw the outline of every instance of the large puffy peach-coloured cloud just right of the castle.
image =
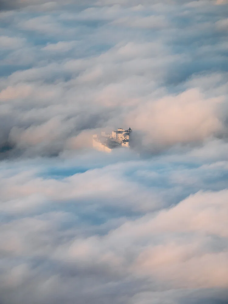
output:
M 146 133 L 145 145 L 202 140 L 223 129 L 216 117 L 220 102 L 222 99 L 204 100 L 197 90 L 192 89 L 179 96 L 145 103 L 140 110 L 130 113 L 129 124 Z

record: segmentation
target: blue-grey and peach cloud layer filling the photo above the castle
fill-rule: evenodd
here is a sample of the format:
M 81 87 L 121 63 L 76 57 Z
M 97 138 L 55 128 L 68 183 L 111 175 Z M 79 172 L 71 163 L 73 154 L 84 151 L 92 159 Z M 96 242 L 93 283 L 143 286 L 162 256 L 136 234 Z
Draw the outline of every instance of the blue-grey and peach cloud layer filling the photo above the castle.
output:
M 119 125 L 147 150 L 227 133 L 226 3 L 15 5 L 1 12 L 3 151 L 55 155 Z

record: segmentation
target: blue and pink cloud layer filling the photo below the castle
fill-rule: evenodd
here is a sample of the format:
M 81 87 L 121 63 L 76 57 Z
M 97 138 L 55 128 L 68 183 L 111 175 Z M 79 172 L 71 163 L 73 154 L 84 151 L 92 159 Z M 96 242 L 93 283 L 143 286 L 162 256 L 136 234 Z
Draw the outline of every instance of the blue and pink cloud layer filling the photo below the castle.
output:
M 106 165 L 99 154 L 58 163 L 48 158 L 21 160 L 13 168 L 3 162 L 1 212 L 6 217 L 0 248 L 8 258 L 1 273 L 2 301 L 31 301 L 31 291 L 36 302 L 59 297 L 71 302 L 77 295 L 92 303 L 92 295 L 99 301 L 113 293 L 118 302 L 123 293 L 131 303 L 142 296 L 146 301 L 153 292 L 158 302 L 184 303 L 188 292 L 194 303 L 207 296 L 222 300 L 227 287 L 227 189 L 219 190 L 222 171 L 216 174 L 216 191 L 195 189 L 178 201 L 171 186 L 174 174 L 190 171 L 189 157 L 182 157 L 181 167 L 166 157 L 143 160 L 129 154 L 109 155 Z M 210 162 L 203 165 L 204 173 L 198 167 L 193 174 L 214 173 Z M 167 164 L 172 169 L 167 170 Z M 181 194 L 192 191 L 181 179 L 175 182 Z M 198 189 L 208 185 L 207 178 L 196 183 Z M 90 282 L 90 288 L 72 288 L 78 280 Z M 45 294 L 36 293 L 37 288 Z M 23 293 L 16 298 L 19 289 Z

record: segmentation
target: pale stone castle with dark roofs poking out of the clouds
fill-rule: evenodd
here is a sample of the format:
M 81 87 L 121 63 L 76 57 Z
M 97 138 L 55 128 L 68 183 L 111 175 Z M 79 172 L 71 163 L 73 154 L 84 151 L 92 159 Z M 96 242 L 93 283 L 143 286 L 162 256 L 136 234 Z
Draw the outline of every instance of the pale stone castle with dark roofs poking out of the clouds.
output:
M 131 128 L 124 130 L 122 128 L 112 131 L 112 134 L 101 132 L 101 135 L 93 134 L 93 147 L 99 151 L 111 152 L 118 147 L 129 148 Z

